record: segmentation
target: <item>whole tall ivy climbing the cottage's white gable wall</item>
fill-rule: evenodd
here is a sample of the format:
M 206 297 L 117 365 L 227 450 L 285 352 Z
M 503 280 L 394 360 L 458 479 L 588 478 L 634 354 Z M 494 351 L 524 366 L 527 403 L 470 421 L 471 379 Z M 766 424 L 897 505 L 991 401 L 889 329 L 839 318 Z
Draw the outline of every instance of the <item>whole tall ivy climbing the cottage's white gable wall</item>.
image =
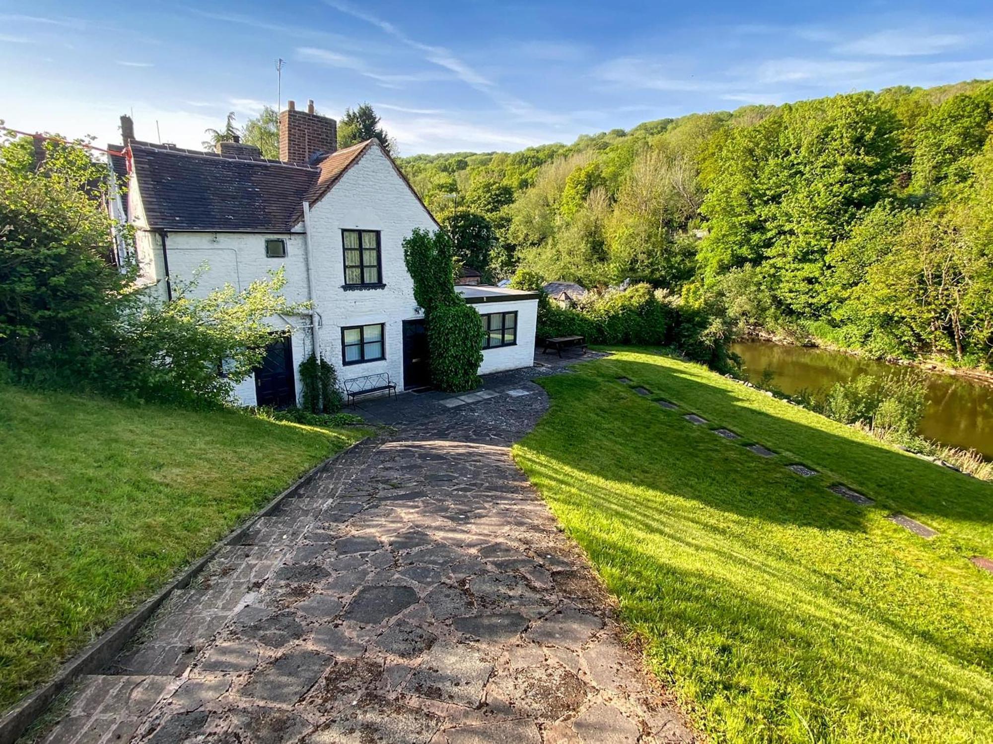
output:
M 415 229 L 403 241 L 403 259 L 414 280 L 414 300 L 424 310 L 431 381 L 458 393 L 480 384 L 483 321 L 455 291 L 452 240 L 445 232 Z

